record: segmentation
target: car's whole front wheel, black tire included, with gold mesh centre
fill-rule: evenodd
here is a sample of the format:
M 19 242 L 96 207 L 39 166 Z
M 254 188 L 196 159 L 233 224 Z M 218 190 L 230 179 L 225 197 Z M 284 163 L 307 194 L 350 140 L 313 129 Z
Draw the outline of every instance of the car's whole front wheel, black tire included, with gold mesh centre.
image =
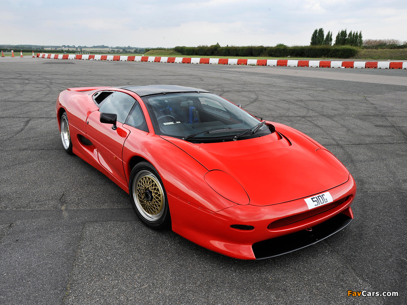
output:
M 131 204 L 138 218 L 152 229 L 169 228 L 167 194 L 157 170 L 148 162 L 140 162 L 131 171 L 129 180 Z

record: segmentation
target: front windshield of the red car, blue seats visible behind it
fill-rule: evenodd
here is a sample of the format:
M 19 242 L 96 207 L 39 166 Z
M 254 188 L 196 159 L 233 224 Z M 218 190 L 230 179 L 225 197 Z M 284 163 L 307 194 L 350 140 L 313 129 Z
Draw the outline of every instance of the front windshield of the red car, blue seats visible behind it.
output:
M 142 99 L 159 135 L 191 142 L 220 142 L 271 133 L 257 118 L 215 94 L 173 93 Z

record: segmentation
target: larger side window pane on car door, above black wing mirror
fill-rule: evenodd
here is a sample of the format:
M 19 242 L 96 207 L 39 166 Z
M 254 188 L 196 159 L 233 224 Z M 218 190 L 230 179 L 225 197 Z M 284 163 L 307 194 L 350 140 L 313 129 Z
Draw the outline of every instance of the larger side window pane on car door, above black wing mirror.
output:
M 114 92 L 103 100 L 99 111 L 115 113 L 118 116 L 118 122 L 124 123 L 135 102 L 135 99 L 123 92 Z

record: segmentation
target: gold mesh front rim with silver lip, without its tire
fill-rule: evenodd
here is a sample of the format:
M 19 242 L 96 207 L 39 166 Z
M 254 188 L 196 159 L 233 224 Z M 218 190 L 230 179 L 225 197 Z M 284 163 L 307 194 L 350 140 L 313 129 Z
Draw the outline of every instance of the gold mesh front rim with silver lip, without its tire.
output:
M 157 221 L 163 214 L 164 191 L 157 177 L 148 170 L 141 170 L 133 180 L 134 203 L 141 217 Z

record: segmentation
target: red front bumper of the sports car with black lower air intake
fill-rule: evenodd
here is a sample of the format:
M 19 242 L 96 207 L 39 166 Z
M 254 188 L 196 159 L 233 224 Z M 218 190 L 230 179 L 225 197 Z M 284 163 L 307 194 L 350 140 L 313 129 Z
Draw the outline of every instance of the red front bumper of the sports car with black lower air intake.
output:
M 329 192 L 334 202 L 321 209 L 308 210 L 304 199 L 297 199 L 269 206 L 235 205 L 218 212 L 169 194 L 172 230 L 226 256 L 274 257 L 313 245 L 352 221 L 356 195 L 352 175 Z

